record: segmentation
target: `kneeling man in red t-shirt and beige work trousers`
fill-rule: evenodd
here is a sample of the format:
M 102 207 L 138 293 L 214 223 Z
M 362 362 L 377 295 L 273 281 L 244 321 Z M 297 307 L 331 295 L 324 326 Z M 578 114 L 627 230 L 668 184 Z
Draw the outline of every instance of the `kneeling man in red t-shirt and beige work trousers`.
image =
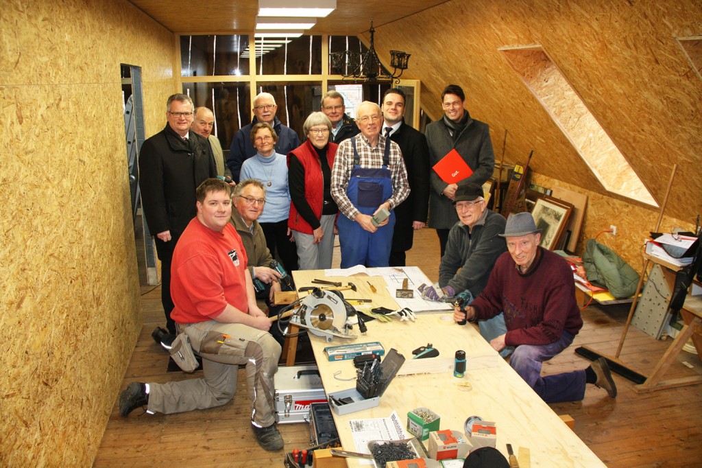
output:
M 166 384 L 131 382 L 119 396 L 120 415 L 147 405 L 169 414 L 213 408 L 237 391 L 239 365 L 246 365 L 251 427 L 265 450 L 280 450 L 275 427 L 273 376 L 281 348 L 268 333 L 271 322 L 256 305 L 248 258 L 229 222 L 230 187 L 210 178 L 197 188 L 197 217 L 173 253 L 171 317 L 202 358 L 204 378 Z

